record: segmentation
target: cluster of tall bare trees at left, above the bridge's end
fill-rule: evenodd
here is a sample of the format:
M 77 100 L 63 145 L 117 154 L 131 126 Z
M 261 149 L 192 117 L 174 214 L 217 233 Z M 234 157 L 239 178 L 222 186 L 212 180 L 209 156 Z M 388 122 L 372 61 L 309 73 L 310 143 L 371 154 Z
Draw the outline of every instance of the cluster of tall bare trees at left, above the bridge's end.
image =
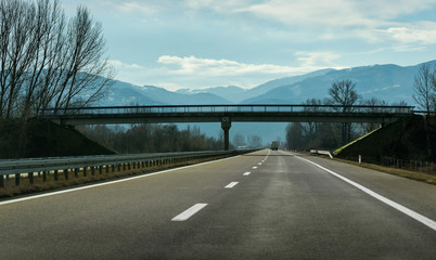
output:
M 66 18 L 57 0 L 0 0 L 0 119 L 99 100 L 114 70 L 102 26 L 85 6 Z

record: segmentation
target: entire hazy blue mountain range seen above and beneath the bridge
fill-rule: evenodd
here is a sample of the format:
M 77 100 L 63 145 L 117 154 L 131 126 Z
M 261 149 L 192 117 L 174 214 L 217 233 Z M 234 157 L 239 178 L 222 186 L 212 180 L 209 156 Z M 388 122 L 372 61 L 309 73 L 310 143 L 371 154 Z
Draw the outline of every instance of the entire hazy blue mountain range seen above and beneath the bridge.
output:
M 431 66 L 436 61 L 428 62 Z M 420 66 L 372 65 L 347 69 L 322 69 L 302 76 L 286 77 L 268 81 L 253 89 L 236 86 L 206 89 L 181 89 L 169 91 L 154 86 L 134 86 L 115 81 L 107 96 L 100 105 L 203 105 L 203 104 L 303 104 L 307 99 L 329 96 L 332 83 L 350 79 L 363 99 L 376 98 L 389 104 L 401 101 L 414 105 L 412 100 L 413 80 Z M 231 138 L 236 133 L 252 134 L 249 129 L 264 139 L 264 143 L 280 139 L 284 141 L 285 125 L 275 123 L 233 123 Z M 208 135 L 217 135 L 219 125 L 201 123 L 201 129 Z M 218 126 L 218 129 L 217 129 Z M 240 127 L 239 127 L 240 126 Z

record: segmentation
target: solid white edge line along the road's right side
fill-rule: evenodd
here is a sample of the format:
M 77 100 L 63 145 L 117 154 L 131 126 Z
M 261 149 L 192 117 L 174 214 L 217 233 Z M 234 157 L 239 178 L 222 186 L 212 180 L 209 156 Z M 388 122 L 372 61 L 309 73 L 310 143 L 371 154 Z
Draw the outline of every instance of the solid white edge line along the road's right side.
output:
M 402 205 L 400 205 L 400 204 L 398 204 L 398 203 L 396 203 L 394 200 L 390 200 L 390 199 L 380 195 L 379 193 L 373 192 L 370 188 L 364 187 L 364 186 L 360 185 L 359 183 L 354 182 L 354 181 L 351 181 L 351 180 L 349 180 L 349 179 L 347 179 L 347 178 L 345 178 L 345 177 L 343 177 L 343 176 L 341 176 L 341 174 L 338 174 L 338 173 L 336 173 L 336 172 L 334 172 L 332 170 L 329 170 L 329 169 L 326 169 L 326 168 L 324 168 L 324 167 L 311 161 L 311 160 L 302 158 L 299 156 L 295 156 L 295 157 L 297 157 L 297 158 L 299 158 L 302 160 L 305 160 L 305 161 L 307 161 L 309 164 L 312 164 L 313 166 L 316 166 L 316 167 L 329 172 L 330 174 L 332 174 L 332 176 L 334 176 L 334 177 L 347 182 L 348 184 L 351 184 L 352 186 L 359 188 L 360 191 L 367 193 L 368 195 L 381 200 L 382 203 L 384 203 L 384 204 L 397 209 L 398 211 L 409 216 L 410 218 L 412 218 L 412 219 L 421 222 L 422 224 L 428 226 L 429 229 L 436 231 L 436 222 L 434 220 L 428 219 L 427 217 L 422 216 L 422 214 L 420 214 L 420 213 L 418 213 L 418 212 L 415 212 L 415 211 L 413 211 L 413 210 L 411 210 L 409 208 L 406 208 L 405 206 L 402 206 Z

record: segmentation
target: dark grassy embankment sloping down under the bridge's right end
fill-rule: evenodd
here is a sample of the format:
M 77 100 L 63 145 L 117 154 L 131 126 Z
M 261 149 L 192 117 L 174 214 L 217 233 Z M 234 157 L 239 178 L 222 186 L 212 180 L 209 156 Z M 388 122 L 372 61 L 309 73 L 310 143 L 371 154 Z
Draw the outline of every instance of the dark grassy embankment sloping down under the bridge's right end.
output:
M 425 121 L 428 128 L 425 130 Z M 426 136 L 429 143 L 426 142 Z M 428 148 L 433 156 L 428 156 Z M 361 167 L 395 174 L 436 185 L 436 173 L 423 173 L 405 169 L 380 166 L 382 157 L 401 160 L 423 160 L 436 162 L 436 118 L 412 116 L 373 131 L 334 152 L 336 159 L 349 164 L 362 156 Z

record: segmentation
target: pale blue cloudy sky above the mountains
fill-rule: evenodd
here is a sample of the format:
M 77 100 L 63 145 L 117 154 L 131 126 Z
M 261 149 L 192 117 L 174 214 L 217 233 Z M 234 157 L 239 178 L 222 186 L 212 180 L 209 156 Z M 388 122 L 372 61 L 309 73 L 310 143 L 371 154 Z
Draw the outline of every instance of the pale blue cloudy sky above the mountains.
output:
M 256 87 L 320 68 L 436 60 L 436 0 L 60 0 L 103 25 L 116 79 Z

